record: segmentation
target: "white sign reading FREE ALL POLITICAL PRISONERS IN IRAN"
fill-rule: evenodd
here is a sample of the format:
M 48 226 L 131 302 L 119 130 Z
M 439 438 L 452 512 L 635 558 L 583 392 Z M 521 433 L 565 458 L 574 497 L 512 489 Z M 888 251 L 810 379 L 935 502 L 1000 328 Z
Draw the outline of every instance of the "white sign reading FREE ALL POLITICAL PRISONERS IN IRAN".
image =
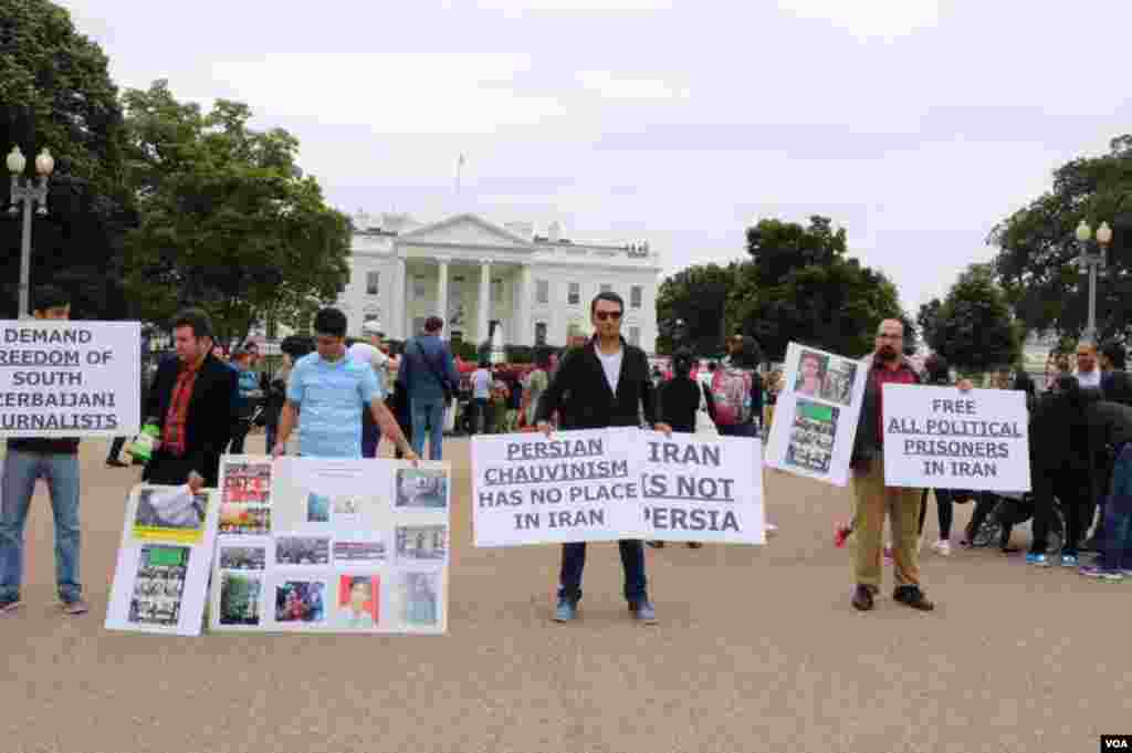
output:
M 884 385 L 889 486 L 1029 491 L 1026 393 Z

